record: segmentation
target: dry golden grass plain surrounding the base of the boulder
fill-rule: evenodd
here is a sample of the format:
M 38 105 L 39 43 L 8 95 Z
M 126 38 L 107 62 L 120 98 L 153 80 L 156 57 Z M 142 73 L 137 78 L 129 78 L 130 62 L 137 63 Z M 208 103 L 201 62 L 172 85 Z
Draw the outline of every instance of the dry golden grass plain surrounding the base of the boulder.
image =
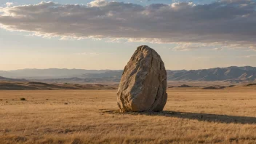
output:
M 0 91 L 0 143 L 256 143 L 255 87 L 168 95 L 164 112 L 117 113 L 116 90 Z

